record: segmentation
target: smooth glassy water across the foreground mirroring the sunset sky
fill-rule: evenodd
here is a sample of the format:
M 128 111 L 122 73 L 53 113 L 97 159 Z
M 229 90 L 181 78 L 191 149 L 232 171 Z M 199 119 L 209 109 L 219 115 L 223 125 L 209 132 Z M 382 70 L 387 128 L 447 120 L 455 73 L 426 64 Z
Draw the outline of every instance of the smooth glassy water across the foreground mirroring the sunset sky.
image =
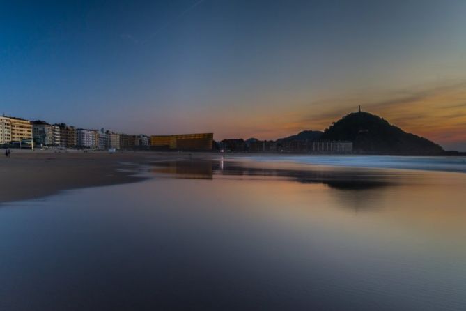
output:
M 0 310 L 466 310 L 466 174 L 316 159 L 157 162 L 2 204 Z

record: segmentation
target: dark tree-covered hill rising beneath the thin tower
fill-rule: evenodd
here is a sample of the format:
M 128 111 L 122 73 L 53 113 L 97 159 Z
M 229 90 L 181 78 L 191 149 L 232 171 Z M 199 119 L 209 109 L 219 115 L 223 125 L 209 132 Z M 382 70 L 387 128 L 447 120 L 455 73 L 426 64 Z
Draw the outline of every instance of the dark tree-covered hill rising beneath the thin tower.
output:
M 353 142 L 357 153 L 426 155 L 442 153 L 443 149 L 430 140 L 391 125 L 385 119 L 368 112 L 354 112 L 327 128 L 320 140 Z

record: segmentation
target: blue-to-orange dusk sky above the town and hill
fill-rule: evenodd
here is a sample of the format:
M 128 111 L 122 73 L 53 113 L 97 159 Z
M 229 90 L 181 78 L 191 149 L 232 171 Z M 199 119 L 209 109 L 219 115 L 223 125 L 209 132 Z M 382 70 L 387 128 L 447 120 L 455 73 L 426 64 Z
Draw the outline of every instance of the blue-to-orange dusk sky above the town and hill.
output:
M 466 1 L 1 1 L 0 113 L 276 139 L 357 105 L 466 151 Z

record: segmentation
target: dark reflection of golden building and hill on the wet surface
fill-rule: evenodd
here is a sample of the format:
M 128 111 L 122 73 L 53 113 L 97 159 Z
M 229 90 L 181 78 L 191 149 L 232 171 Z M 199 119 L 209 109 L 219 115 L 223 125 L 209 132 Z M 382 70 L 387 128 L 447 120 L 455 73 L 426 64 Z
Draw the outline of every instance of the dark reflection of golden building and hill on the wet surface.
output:
M 224 159 L 169 160 L 151 164 L 151 172 L 167 174 L 181 179 L 226 178 L 288 179 L 299 183 L 321 183 L 339 190 L 368 190 L 389 185 L 397 185 L 400 179 L 393 173 L 376 169 L 319 167 L 308 165 L 293 168 L 286 165 L 254 165 L 254 162 L 241 162 Z

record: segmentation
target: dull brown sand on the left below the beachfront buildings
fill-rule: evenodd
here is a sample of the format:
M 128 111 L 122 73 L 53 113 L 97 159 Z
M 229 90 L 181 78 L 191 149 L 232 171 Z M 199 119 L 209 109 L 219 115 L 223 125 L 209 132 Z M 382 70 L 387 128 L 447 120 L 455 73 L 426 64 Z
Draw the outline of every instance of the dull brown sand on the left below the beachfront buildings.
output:
M 0 204 L 44 197 L 68 189 L 141 181 L 143 177 L 134 176 L 137 168 L 134 164 L 189 156 L 143 151 L 114 154 L 12 151 L 11 157 L 6 158 L 5 149 L 0 149 Z

